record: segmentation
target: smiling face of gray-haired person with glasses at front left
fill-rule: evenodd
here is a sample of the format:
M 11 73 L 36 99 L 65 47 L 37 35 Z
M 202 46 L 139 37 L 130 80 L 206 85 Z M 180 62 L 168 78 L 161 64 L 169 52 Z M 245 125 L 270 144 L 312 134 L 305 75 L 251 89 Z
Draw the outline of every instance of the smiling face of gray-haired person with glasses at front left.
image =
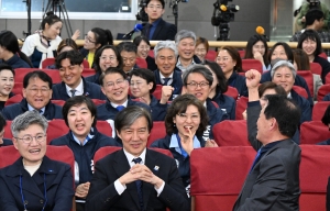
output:
M 31 135 L 33 137 L 30 144 L 25 144 L 22 140 L 20 140 L 25 135 Z M 42 162 L 43 157 L 46 154 L 46 137 L 44 137 L 43 142 L 37 142 L 34 136 L 38 135 L 45 135 L 43 127 L 38 124 L 32 124 L 28 129 L 19 132 L 19 138 L 12 138 L 14 147 L 23 157 L 24 165 L 37 165 Z

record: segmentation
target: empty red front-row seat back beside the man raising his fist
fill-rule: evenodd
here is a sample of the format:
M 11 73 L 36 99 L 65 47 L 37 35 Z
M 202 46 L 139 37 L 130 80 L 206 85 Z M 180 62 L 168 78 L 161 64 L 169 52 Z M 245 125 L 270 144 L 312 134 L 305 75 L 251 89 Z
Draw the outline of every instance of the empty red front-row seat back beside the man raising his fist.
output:
M 194 149 L 190 193 L 195 210 L 232 210 L 255 155 L 251 146 Z

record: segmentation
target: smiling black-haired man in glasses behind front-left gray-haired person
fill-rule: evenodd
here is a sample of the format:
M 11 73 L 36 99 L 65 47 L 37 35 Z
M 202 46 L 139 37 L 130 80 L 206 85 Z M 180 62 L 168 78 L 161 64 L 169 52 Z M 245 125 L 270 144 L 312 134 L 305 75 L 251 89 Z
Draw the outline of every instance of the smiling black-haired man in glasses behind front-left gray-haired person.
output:
M 62 119 L 62 108 L 52 103 L 52 78 L 41 70 L 31 71 L 23 79 L 23 100 L 3 108 L 6 120 L 13 120 L 25 111 L 36 110 L 47 120 Z

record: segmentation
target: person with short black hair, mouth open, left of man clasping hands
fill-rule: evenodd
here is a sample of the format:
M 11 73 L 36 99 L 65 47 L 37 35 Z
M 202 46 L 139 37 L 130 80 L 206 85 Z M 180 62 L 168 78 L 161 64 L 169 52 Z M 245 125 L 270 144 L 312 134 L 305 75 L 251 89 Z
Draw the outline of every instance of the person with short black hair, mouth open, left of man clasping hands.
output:
M 63 106 L 63 116 L 69 132 L 51 142 L 51 145 L 66 145 L 75 155 L 76 208 L 85 211 L 87 197 L 94 171 L 94 155 L 102 146 L 119 146 L 112 138 L 98 132 L 97 110 L 94 102 L 85 96 L 68 99 Z

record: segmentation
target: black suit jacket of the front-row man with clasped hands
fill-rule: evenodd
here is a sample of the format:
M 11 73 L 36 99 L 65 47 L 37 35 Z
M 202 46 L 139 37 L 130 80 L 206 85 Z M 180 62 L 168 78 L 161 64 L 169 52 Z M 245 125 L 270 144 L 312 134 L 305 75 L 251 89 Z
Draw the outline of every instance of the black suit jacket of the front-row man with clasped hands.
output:
M 165 186 L 157 197 L 154 186 L 142 181 L 144 210 L 165 211 L 167 207 L 172 211 L 188 211 L 187 193 L 175 160 L 161 153 L 146 149 L 145 165 L 165 181 Z M 154 170 L 155 166 L 158 166 L 158 170 Z M 86 210 L 140 210 L 135 182 L 128 184 L 121 196 L 118 195 L 114 188 L 114 181 L 129 170 L 130 164 L 123 149 L 107 155 L 97 162 L 86 200 Z

